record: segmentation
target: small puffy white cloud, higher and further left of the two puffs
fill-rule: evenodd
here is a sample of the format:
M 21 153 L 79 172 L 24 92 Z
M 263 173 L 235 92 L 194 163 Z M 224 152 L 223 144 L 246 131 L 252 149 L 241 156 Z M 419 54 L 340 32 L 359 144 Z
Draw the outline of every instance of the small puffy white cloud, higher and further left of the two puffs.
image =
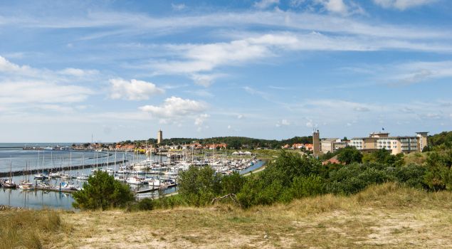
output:
M 164 93 L 162 88 L 157 88 L 153 83 L 142 80 L 123 80 L 121 78 L 111 79 L 112 99 L 125 100 L 149 100 L 152 95 Z

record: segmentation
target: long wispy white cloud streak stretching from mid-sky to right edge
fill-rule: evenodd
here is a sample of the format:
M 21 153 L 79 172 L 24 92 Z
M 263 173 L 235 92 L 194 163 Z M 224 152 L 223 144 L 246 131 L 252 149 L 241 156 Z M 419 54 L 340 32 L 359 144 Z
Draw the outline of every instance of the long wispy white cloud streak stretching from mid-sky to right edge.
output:
M 151 67 L 155 74 L 189 75 L 197 85 L 211 85 L 217 74 L 206 74 L 222 66 L 259 63 L 262 59 L 283 56 L 296 51 L 452 51 L 452 46 L 429 46 L 425 43 L 374 39 L 366 36 L 330 36 L 310 33 L 247 34 L 246 38 L 228 43 L 179 44 L 164 46 L 173 60 L 157 60 Z M 256 94 L 256 90 L 245 88 Z M 253 91 L 253 92 L 252 92 Z

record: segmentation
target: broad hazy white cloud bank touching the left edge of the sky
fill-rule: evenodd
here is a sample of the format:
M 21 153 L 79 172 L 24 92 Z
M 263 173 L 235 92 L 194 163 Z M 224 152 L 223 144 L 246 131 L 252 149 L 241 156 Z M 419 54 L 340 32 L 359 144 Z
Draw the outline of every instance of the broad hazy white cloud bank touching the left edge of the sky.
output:
M 97 73 L 95 70 L 31 68 L 0 56 L 0 72 L 0 105 L 4 110 L 72 112 L 75 109 L 65 105 L 83 102 L 95 94 L 79 85 L 88 75 Z

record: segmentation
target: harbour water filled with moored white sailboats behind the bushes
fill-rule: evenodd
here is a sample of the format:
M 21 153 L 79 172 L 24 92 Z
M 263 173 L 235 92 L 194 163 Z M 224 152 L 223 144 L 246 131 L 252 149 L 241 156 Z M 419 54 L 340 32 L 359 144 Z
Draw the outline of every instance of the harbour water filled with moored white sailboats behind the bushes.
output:
M 177 175 L 190 165 L 209 165 L 216 174 L 246 174 L 264 163 L 251 155 L 211 151 L 137 154 L 1 147 L 0 205 L 73 210 L 71 193 L 82 189 L 95 171 L 108 172 L 141 199 L 177 192 Z

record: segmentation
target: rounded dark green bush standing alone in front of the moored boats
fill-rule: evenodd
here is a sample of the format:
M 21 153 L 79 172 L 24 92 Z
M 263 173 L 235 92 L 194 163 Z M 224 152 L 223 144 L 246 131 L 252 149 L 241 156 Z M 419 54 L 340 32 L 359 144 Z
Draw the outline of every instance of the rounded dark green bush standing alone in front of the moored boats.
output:
M 129 186 L 116 181 L 107 172 L 96 171 L 83 184 L 83 190 L 73 194 L 73 206 L 81 209 L 99 209 L 124 207 L 134 201 L 135 196 Z

